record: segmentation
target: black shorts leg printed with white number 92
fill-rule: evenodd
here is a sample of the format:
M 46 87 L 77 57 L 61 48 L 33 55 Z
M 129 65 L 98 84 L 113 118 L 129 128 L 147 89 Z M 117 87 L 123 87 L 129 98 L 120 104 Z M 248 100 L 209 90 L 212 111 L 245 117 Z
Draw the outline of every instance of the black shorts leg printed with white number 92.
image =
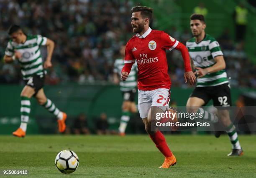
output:
M 217 88 L 218 87 L 218 88 Z M 215 87 L 212 91 L 213 105 L 217 106 L 218 109 L 225 109 L 225 107 L 231 106 L 231 92 L 228 83 Z

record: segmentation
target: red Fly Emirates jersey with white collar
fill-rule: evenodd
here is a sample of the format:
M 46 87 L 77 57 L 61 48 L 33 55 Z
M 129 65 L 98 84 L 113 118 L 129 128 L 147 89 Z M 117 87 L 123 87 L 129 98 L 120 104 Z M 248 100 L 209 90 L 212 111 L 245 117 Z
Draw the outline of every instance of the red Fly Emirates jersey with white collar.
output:
M 134 63 L 136 60 L 139 90 L 171 87 L 171 80 L 167 73 L 166 50 L 172 50 L 178 44 L 179 41 L 163 31 L 151 30 L 151 28 L 142 36 L 137 34 L 128 41 L 125 48 L 124 63 Z M 187 68 L 186 71 L 189 69 Z

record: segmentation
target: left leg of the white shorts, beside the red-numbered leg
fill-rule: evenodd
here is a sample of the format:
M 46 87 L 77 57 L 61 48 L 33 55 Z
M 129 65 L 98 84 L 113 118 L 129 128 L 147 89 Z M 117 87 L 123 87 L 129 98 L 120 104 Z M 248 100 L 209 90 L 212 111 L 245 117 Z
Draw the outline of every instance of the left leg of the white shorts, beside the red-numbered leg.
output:
M 138 92 L 138 111 L 142 119 L 148 117 L 152 100 L 148 97 L 148 91 L 139 90 Z

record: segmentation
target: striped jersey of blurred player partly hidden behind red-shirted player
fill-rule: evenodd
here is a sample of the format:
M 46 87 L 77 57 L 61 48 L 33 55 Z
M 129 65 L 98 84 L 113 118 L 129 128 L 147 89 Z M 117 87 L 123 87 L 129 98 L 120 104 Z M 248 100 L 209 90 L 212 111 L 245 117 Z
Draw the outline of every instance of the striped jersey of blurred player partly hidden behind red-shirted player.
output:
M 114 63 L 114 73 L 121 74 L 122 68 L 124 66 L 123 59 L 116 59 Z M 135 62 L 129 73 L 129 77 L 125 81 L 120 81 L 120 90 L 121 91 L 130 91 L 136 89 L 137 87 L 137 63 Z

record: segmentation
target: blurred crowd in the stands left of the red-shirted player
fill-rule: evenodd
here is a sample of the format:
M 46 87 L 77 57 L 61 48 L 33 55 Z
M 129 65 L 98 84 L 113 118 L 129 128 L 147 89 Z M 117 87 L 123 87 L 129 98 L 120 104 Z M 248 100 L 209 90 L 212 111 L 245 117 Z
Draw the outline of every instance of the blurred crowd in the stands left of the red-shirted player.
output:
M 110 80 L 119 46 L 131 37 L 129 0 L 0 1 L 1 57 L 11 24 L 54 40 L 54 67 L 46 79 L 49 84 Z M 42 55 L 46 56 L 45 48 Z M 20 82 L 17 65 L 2 64 L 1 83 Z

